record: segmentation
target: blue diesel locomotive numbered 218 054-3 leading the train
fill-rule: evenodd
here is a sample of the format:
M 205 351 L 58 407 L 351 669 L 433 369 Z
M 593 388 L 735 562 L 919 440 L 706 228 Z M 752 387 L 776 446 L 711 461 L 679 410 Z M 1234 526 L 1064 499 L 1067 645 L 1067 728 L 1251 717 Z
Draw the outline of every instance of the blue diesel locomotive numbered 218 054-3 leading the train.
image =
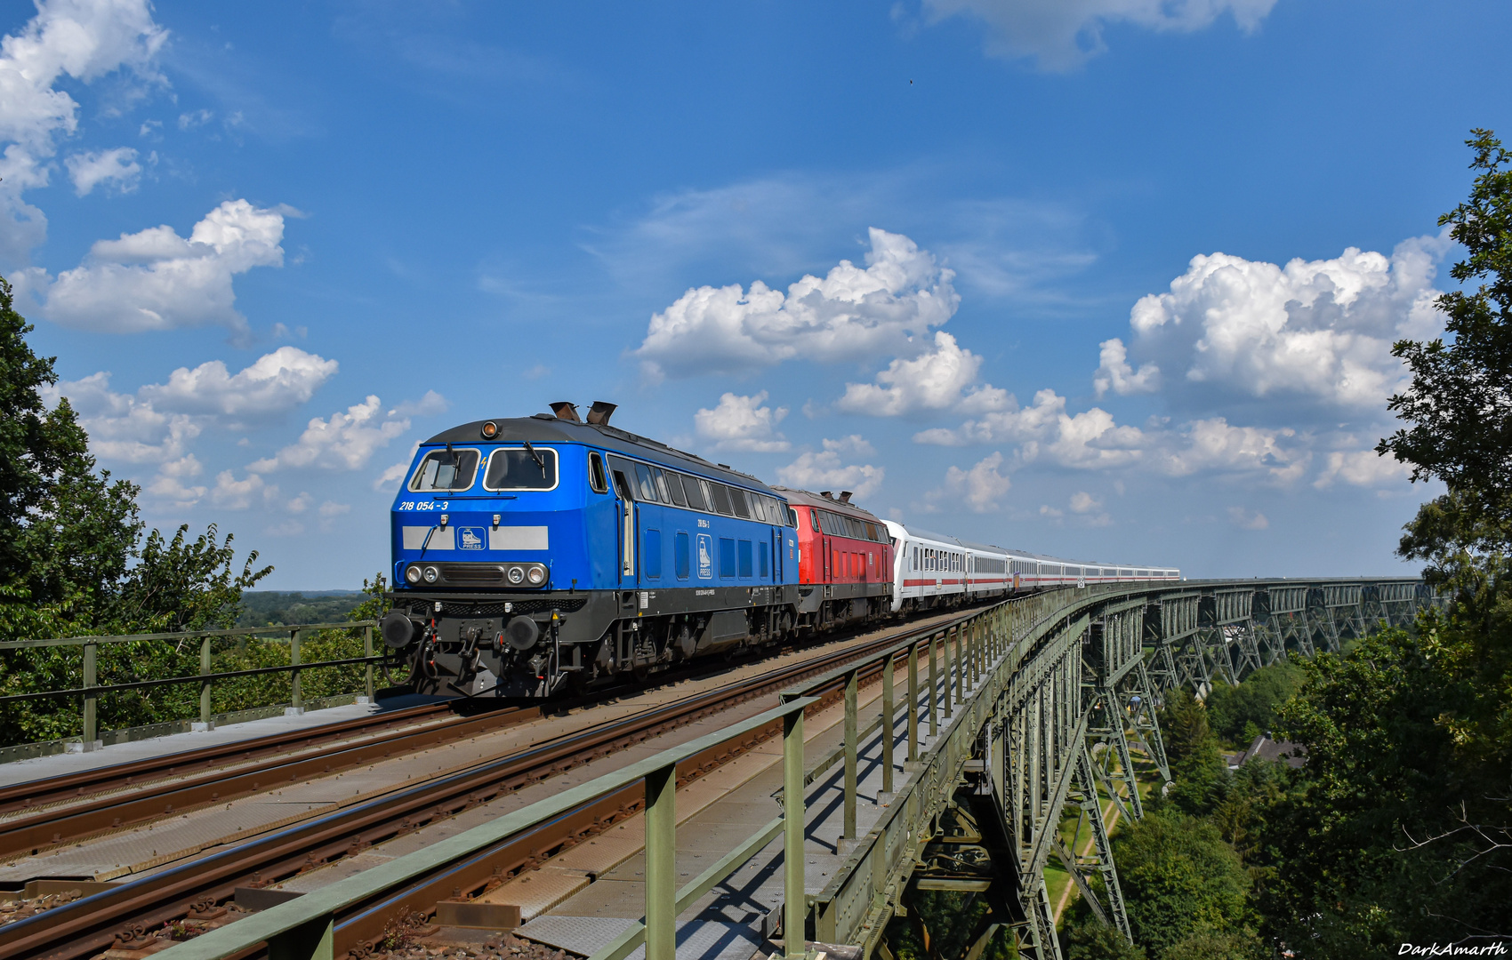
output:
M 420 444 L 390 513 L 381 621 L 416 692 L 549 697 L 798 627 L 786 500 L 612 413 L 553 404 Z

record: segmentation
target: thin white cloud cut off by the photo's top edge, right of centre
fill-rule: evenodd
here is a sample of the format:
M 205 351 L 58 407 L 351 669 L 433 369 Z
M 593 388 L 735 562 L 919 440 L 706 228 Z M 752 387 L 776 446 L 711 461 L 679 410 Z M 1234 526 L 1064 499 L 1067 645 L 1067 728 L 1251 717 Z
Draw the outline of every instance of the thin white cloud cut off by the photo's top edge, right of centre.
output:
M 1128 23 L 1148 30 L 1193 33 L 1223 14 L 1244 32 L 1259 26 L 1276 0 L 925 0 L 931 20 L 969 17 L 987 27 L 987 53 L 1033 57 L 1064 71 L 1104 50 L 1102 30 Z

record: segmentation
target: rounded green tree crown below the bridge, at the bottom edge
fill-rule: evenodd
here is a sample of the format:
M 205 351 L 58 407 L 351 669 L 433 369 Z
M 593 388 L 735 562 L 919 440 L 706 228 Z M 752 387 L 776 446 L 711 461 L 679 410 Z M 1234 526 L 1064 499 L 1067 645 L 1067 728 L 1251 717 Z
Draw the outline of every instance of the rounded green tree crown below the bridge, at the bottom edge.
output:
M 1154 957 L 1204 928 L 1250 921 L 1250 875 L 1217 827 L 1175 809 L 1154 810 L 1113 839 L 1134 942 Z

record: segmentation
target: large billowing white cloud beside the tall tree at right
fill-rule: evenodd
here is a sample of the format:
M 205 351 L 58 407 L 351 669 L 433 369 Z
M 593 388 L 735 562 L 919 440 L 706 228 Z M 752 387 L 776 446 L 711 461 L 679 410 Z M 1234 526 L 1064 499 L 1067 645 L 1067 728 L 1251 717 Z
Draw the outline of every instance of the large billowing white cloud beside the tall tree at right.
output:
M 1390 257 L 1349 248 L 1285 266 L 1193 257 L 1167 293 L 1134 304 L 1131 346 L 1169 373 L 1167 392 L 1380 410 L 1406 378 L 1391 345 L 1442 330 L 1433 277 L 1448 243 L 1417 237 Z M 1108 382 L 1117 390 L 1111 373 Z

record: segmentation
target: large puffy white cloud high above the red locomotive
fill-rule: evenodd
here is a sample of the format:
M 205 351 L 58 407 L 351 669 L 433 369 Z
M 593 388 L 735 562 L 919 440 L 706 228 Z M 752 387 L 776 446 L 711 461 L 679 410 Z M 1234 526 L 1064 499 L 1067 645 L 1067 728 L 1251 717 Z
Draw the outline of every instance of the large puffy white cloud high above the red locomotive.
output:
M 956 313 L 954 274 L 906 236 L 869 231 L 866 266 L 841 260 L 824 278 L 773 290 L 696 287 L 652 316 L 635 351 L 652 378 L 735 373 L 803 357 L 821 363 L 910 351 Z

